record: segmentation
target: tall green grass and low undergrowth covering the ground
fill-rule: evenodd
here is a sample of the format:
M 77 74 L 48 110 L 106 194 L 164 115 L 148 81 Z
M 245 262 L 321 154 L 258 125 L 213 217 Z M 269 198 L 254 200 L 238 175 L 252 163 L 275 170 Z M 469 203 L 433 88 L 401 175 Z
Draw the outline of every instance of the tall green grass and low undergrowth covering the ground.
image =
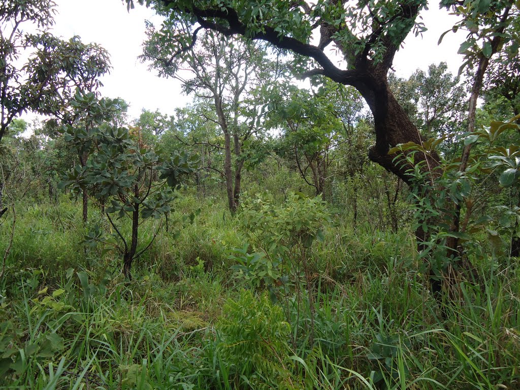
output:
M 197 208 L 193 223 L 174 224 Z M 471 280 L 454 302 L 439 303 L 409 232 L 353 229 L 333 219 L 324 239 L 302 252 L 307 275 L 285 275 L 273 295 L 264 281 L 241 279 L 232 268 L 235 249 L 252 236 L 240 215 L 224 210 L 183 196 L 128 281 L 115 251 L 80 243 L 89 228 L 106 224 L 94 207 L 83 227 L 72 202 L 19 205 L 0 281 L 0 388 L 520 385 L 513 259 L 471 259 Z M 151 228 L 142 229 L 140 245 Z M 9 229 L 7 220 L 0 254 Z

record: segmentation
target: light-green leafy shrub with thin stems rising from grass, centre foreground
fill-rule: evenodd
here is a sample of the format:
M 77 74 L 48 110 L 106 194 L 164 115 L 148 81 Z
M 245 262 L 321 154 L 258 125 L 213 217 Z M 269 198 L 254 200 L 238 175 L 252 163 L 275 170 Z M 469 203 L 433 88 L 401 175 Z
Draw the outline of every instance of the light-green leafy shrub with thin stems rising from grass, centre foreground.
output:
M 322 229 L 330 222 L 321 196 L 308 198 L 302 193 L 288 193 L 282 203 L 277 203 L 267 192 L 256 198 L 244 196 L 239 217 L 258 252 L 248 253 L 245 244 L 230 256 L 238 263 L 233 266 L 238 277 L 247 280 L 250 287 L 267 288 L 274 302 L 283 297 L 288 318 L 290 306 L 299 308 L 302 299 L 308 300 L 311 317 L 307 329 L 312 340 L 315 314 L 312 284 L 316 265 L 311 248 L 316 241 L 324 240 Z M 302 294 L 304 285 L 307 292 Z M 289 297 L 293 287 L 296 300 Z

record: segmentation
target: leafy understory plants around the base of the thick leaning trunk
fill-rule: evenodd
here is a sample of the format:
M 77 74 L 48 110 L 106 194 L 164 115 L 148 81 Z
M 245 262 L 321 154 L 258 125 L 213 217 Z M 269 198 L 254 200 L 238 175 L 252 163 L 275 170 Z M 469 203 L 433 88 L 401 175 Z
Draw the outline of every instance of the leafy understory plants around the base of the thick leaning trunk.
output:
M 518 256 L 514 250 L 520 222 L 515 186 L 520 178 L 517 119 L 493 121 L 479 131 L 463 134 L 464 145 L 475 146 L 464 170 L 460 159 L 445 160 L 442 156 L 434 170 L 426 166 L 428 158 L 438 156 L 436 147 L 444 138 L 432 138 L 421 145 L 409 142 L 389 152 L 409 167 L 409 200 L 416 206 L 414 228 L 424 233 L 418 235 L 422 271 L 430 275 L 433 291 L 440 292 L 444 284 L 450 299 L 457 290 L 454 287 L 471 277 L 467 272 L 474 266 L 471 258 L 477 261 L 506 249 L 510 256 Z M 485 202 L 490 197 L 495 200 L 492 207 Z

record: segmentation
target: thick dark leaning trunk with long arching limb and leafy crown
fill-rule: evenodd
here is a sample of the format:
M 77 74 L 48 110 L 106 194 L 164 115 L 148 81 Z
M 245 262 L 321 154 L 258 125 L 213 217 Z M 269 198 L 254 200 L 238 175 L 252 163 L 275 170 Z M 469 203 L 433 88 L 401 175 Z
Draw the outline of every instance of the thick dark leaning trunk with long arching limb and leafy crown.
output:
M 133 0 L 126 0 L 128 8 Z M 139 0 L 139 3 L 145 3 Z M 345 1 L 287 2 L 272 0 L 258 3 L 241 1 L 147 0 L 147 5 L 165 9 L 174 32 L 170 33 L 173 54 L 189 50 L 201 29 L 225 36 L 242 35 L 264 40 L 296 55 L 294 69 L 300 77 L 327 76 L 333 81 L 355 87 L 366 100 L 374 116 L 375 145 L 369 157 L 408 181 L 406 167 L 394 163 L 388 155 L 391 146 L 409 141 L 420 144 L 417 128 L 388 88 L 387 72 L 394 55 L 411 30 L 424 29 L 415 18 L 424 1 L 347 5 Z M 196 27 L 198 23 L 198 27 Z M 189 29 L 185 29 L 188 25 Z M 319 30 L 317 45 L 312 34 Z M 340 69 L 326 54 L 334 43 L 347 62 Z M 428 158 L 436 165 L 435 158 Z

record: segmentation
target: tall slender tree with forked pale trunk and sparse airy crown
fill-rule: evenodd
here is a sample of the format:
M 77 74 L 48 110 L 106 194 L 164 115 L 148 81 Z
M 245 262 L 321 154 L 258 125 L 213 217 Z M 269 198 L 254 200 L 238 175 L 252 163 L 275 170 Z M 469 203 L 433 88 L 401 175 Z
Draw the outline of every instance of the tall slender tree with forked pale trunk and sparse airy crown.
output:
M 158 10 L 163 11 L 162 8 Z M 192 45 L 179 56 L 174 40 L 177 27 L 178 24 L 171 24 L 170 20 L 163 22 L 159 31 L 149 25 L 142 58 L 152 61 L 152 68 L 157 69 L 160 75 L 176 77 L 183 82 L 187 93 L 212 102 L 211 109 L 216 112 L 216 119 L 210 113 L 203 113 L 203 116 L 215 121 L 224 135 L 224 145 L 218 148 L 224 151 L 228 205 L 234 214 L 240 198 L 243 148 L 257 131 L 257 110 L 255 107 L 249 109 L 244 100 L 251 93 L 252 86 L 262 78 L 265 53 L 258 45 L 223 39 L 210 31 L 203 34 L 200 44 L 193 40 Z M 183 29 L 189 30 L 189 25 L 185 24 Z M 190 79 L 179 72 L 181 64 L 189 67 Z

